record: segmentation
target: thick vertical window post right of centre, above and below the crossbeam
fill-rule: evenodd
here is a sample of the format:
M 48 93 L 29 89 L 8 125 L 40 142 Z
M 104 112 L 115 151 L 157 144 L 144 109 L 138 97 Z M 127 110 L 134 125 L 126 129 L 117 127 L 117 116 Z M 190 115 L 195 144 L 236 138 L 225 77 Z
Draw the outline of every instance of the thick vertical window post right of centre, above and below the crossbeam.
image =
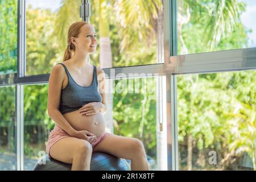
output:
M 177 55 L 177 1 L 164 1 L 164 64 L 170 64 L 170 56 Z M 168 170 L 177 170 L 177 105 L 176 77 L 166 75 L 166 127 Z

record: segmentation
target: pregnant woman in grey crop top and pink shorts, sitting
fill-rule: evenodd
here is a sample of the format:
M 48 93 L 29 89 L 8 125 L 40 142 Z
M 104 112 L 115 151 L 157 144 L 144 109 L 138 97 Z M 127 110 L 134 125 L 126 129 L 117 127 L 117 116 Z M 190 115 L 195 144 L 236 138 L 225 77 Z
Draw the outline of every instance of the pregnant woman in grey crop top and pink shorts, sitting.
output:
M 89 170 L 93 151 L 130 159 L 131 170 L 148 170 L 140 140 L 105 133 L 105 73 L 87 61 L 96 47 L 91 24 L 76 22 L 69 27 L 63 63 L 56 64 L 49 77 L 48 114 L 55 127 L 47 153 L 72 164 L 72 170 Z

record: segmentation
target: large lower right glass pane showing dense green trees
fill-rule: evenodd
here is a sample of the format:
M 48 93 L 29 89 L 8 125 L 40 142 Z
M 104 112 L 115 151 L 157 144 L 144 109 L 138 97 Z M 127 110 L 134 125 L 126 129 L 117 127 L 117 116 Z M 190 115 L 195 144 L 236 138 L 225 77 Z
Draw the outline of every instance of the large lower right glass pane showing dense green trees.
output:
M 177 76 L 180 170 L 256 170 L 256 71 Z

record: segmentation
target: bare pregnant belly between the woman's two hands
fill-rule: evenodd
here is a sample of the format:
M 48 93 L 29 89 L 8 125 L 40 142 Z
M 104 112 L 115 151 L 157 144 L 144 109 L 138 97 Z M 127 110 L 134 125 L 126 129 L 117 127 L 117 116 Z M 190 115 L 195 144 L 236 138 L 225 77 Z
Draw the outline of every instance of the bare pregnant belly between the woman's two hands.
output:
M 65 119 L 77 131 L 87 130 L 97 137 L 105 132 L 105 122 L 101 112 L 94 115 L 81 115 L 79 110 L 64 114 Z

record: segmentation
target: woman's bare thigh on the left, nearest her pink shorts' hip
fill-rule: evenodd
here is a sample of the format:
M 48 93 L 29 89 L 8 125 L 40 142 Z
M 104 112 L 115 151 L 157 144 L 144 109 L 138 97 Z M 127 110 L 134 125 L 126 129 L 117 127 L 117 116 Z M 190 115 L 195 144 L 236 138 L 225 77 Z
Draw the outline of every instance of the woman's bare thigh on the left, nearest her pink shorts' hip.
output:
M 90 145 L 90 143 L 75 137 L 65 137 L 53 144 L 49 153 L 53 159 L 72 164 L 77 148 L 85 145 Z

